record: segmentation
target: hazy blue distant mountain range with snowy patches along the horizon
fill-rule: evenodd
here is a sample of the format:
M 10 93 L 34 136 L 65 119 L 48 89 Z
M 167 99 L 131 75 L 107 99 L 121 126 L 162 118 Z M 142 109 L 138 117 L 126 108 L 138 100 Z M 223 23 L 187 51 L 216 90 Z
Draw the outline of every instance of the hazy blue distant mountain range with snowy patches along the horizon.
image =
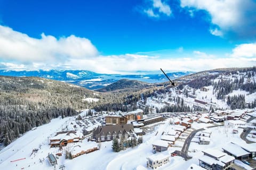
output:
M 170 79 L 191 74 L 194 72 L 172 72 L 167 73 Z M 164 74 L 159 70 L 159 74 L 100 74 L 87 70 L 33 70 L 33 71 L 14 71 L 0 70 L 0 75 L 12 77 L 41 77 L 73 83 L 90 90 L 101 89 L 121 79 L 138 80 L 147 83 L 158 83 L 168 81 Z

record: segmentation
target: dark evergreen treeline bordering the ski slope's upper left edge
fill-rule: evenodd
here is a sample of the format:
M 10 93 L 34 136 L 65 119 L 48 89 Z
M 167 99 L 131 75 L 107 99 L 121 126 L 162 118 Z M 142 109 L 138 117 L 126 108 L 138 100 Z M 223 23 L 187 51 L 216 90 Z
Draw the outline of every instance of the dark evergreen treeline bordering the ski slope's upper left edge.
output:
M 34 127 L 49 123 L 52 118 L 73 116 L 77 112 L 73 108 L 41 107 L 27 110 L 15 106 L 0 107 L 0 142 L 9 145 L 21 134 Z

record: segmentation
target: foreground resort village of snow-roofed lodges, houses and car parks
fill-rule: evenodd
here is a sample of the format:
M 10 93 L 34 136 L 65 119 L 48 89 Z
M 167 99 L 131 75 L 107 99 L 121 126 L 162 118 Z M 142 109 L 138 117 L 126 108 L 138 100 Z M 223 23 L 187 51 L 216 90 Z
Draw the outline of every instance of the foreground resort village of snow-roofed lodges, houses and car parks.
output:
M 89 116 L 89 112 L 92 115 Z M 187 169 L 253 169 L 256 167 L 254 116 L 256 116 L 254 109 L 216 111 L 211 114 L 196 112 L 151 115 L 143 115 L 141 109 L 103 115 L 98 115 L 94 111 L 84 111 L 62 124 L 59 131 L 47 137 L 38 148 L 31 148 L 31 153 L 26 153 L 25 158 L 10 160 L 9 164 L 12 166 L 8 167 L 29 169 L 33 163 L 26 165 L 24 162 L 34 159 L 34 164 L 38 162 L 45 164 L 48 169 L 51 169 L 49 168 L 51 166 L 53 169 L 65 169 L 65 160 L 74 160 L 93 152 L 101 152 L 104 147 L 113 148 L 115 139 L 120 141 L 134 138 L 138 141 L 142 137 L 143 142 L 140 145 L 146 144 L 148 138 L 154 139 L 147 143 L 150 146 L 147 152 L 151 154 L 145 155 L 145 163 L 135 168 L 172 169 L 172 159 L 175 157 L 182 157 L 185 161 L 193 159 L 194 152 L 199 150 L 189 148 L 189 145 L 191 147 L 193 143 L 195 148 L 200 145 L 210 145 L 212 138 L 216 138 L 212 135 L 212 131 L 218 129 L 225 131 L 226 135 L 235 135 L 240 140 L 230 141 L 219 150 L 203 149 L 203 155 Z M 102 145 L 105 142 L 108 142 L 108 145 Z M 123 142 L 122 145 L 123 150 L 126 148 L 128 150 L 127 143 Z M 41 149 L 42 146 L 47 146 L 48 149 Z M 130 151 L 138 149 L 137 147 L 131 148 Z M 41 158 L 43 153 L 44 156 Z

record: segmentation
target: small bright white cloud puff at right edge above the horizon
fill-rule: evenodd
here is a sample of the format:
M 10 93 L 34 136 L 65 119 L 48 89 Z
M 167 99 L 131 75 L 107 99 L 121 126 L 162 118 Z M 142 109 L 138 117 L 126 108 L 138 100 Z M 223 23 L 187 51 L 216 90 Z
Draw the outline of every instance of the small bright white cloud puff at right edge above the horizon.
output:
M 256 43 L 241 44 L 234 48 L 232 57 L 255 57 L 256 58 Z

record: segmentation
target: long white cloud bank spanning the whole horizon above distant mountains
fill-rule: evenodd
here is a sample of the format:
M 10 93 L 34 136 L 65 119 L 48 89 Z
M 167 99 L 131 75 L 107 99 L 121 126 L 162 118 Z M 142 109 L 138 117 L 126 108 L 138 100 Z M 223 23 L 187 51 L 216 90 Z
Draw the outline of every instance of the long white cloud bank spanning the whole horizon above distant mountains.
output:
M 70 69 L 90 70 L 99 73 L 134 73 L 156 71 L 159 68 L 173 71 L 202 71 L 219 67 L 247 67 L 256 65 L 256 44 L 236 46 L 225 58 L 194 50 L 190 57 L 161 57 L 161 55 L 123 54 L 100 55 L 89 39 L 76 37 L 39 39 L 0 25 L 0 69 L 36 70 Z M 177 49 L 175 49 L 177 50 Z

